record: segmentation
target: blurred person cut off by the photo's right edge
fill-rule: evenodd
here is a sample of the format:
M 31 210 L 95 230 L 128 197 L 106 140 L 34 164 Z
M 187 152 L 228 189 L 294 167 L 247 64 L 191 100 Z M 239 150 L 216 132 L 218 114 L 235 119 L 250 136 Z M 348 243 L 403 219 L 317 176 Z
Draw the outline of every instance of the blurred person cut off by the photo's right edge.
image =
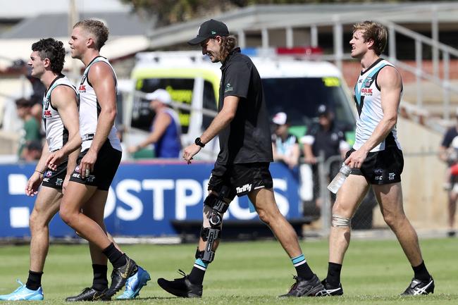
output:
M 447 173 L 445 178 L 445 189 L 448 191 L 448 227 L 447 235 L 454 237 L 454 215 L 457 211 L 458 199 L 458 173 L 452 170 L 456 168 L 458 161 L 458 109 L 456 113 L 455 125 L 445 132 L 442 144 L 439 147 L 439 157 L 447 163 Z

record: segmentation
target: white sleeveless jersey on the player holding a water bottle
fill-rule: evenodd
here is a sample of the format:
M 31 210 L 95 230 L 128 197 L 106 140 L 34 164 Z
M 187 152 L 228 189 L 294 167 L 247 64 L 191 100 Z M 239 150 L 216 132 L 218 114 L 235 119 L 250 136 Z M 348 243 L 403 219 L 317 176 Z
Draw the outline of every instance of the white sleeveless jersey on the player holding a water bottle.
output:
M 377 76 L 380 70 L 385 66 L 392 66 L 392 64 L 382 58 L 378 59 L 369 69 L 364 72 L 361 71 L 357 84 L 354 86 L 354 101 L 357 104 L 356 106 L 359 114 L 353 145 L 354 149 L 361 148 L 369 137 L 371 137 L 376 126 L 383 118 L 380 87 L 378 87 L 377 84 Z M 383 151 L 385 147 L 390 144 L 396 144 L 397 148 L 401 149 L 400 142 L 397 140 L 396 126 L 392 127 L 388 136 L 374 147 L 371 152 Z

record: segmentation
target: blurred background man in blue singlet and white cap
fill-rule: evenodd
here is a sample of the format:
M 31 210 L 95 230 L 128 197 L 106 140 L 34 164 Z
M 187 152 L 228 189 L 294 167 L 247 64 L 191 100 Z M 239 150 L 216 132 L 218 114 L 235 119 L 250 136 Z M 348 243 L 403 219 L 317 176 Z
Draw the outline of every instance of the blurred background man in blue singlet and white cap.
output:
M 146 98 L 150 100 L 151 109 L 156 112 L 151 133 L 137 146 L 129 147 L 128 151 L 133 154 L 149 144 L 154 144 L 156 158 L 178 158 L 181 149 L 181 125 L 178 114 L 169 107 L 172 102 L 170 94 L 165 89 L 157 89 L 147 94 Z

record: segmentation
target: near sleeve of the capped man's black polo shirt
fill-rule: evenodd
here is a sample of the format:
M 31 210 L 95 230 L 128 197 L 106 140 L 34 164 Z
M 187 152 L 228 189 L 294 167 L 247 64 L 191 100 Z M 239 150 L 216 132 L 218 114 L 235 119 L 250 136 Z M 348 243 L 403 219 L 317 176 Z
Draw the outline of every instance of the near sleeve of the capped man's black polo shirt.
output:
M 249 80 L 252 69 L 243 61 L 230 63 L 226 72 L 224 84 L 224 97 L 248 97 Z

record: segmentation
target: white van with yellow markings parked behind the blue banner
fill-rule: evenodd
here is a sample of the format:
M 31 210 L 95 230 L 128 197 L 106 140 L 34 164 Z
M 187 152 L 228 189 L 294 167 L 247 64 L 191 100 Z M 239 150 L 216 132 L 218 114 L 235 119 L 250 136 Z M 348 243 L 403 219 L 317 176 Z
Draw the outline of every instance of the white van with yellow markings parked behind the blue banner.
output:
M 271 116 L 279 111 L 287 113 L 290 132 L 300 138 L 314 120 L 318 105 L 326 104 L 333 109 L 337 122 L 348 127 L 347 138 L 352 144 L 355 116 L 337 67 L 326 61 L 295 60 L 274 54 L 250 57 L 261 75 Z M 144 94 L 159 88 L 171 94 L 175 106 L 183 106 L 178 109 L 182 146 L 194 142 L 216 115 L 221 65 L 211 63 L 200 51 L 145 52 L 137 54 L 136 59 L 131 75 L 135 94 L 123 111 L 125 144 L 137 144 L 146 137 L 154 113 Z M 213 139 L 209 147 L 212 149 L 203 149 L 198 156 L 214 161 L 217 141 Z M 149 151 L 140 156 L 153 155 Z

